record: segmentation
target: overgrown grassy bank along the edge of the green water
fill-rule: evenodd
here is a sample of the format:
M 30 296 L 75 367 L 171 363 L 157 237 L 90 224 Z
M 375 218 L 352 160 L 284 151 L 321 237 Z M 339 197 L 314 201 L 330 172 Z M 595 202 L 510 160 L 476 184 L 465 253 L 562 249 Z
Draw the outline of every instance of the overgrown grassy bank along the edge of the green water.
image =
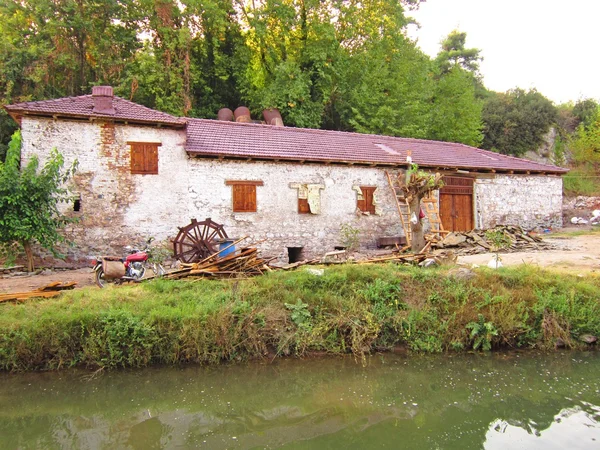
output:
M 155 280 L 0 305 L 3 370 L 218 363 L 318 351 L 363 355 L 554 348 L 600 335 L 600 279 L 521 266 L 335 266 L 240 281 Z

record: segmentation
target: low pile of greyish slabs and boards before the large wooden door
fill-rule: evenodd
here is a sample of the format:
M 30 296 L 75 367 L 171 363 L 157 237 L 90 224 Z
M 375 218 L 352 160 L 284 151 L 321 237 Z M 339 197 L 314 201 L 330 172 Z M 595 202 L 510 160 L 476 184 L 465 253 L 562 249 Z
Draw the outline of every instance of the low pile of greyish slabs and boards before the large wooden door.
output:
M 500 249 L 500 251 L 505 253 L 539 251 L 552 248 L 552 245 L 544 242 L 541 237 L 528 234 L 519 226 L 498 225 L 492 231 L 501 231 L 508 239 L 508 245 Z M 448 233 L 441 239 L 431 238 L 431 248 L 452 249 L 461 255 L 496 251 L 494 244 L 486 238 L 485 233 L 486 230 Z

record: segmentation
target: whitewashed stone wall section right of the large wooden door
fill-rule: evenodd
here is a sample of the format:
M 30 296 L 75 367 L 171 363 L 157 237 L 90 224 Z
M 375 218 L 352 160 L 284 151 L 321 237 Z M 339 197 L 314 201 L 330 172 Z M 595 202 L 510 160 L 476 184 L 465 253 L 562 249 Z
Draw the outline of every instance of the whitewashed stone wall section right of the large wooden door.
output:
M 550 175 L 496 175 L 475 181 L 476 227 L 521 225 L 562 227 L 562 178 Z

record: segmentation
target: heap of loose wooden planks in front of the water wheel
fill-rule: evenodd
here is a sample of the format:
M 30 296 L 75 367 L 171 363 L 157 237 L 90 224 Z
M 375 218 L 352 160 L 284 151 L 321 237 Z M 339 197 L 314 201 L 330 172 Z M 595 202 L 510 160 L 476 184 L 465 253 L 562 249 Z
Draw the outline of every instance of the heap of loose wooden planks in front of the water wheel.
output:
M 218 258 L 216 255 L 211 255 L 197 263 L 182 264 L 181 269 L 170 272 L 164 278 L 247 278 L 271 271 L 267 265 L 269 261 L 259 258 L 258 250 L 254 247 L 242 248 L 223 258 Z

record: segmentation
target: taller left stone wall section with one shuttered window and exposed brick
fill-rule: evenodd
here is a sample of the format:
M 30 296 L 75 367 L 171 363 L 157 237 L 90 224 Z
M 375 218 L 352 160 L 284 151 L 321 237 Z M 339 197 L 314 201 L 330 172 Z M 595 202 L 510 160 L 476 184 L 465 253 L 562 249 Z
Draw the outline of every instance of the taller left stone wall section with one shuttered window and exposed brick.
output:
M 65 164 L 78 161 L 71 189 L 80 196 L 81 209 L 63 205 L 64 212 L 78 219 L 67 229 L 76 244 L 63 249 L 69 263 L 84 263 L 95 254 L 122 254 L 125 245 L 150 236 L 165 240 L 174 224 L 187 220 L 183 130 L 25 116 L 21 132 L 24 160 L 36 154 L 43 162 L 56 147 Z M 161 144 L 158 175 L 131 174 L 127 142 L 136 141 Z

